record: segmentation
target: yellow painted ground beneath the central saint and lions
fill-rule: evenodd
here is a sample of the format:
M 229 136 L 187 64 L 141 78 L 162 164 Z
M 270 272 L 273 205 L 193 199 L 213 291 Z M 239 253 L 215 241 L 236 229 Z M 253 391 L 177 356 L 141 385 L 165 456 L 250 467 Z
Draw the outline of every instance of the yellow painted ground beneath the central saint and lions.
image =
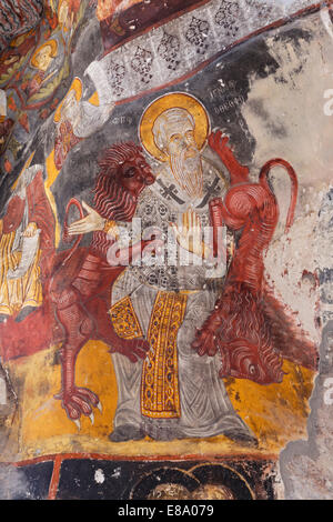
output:
M 173 442 L 142 441 L 112 443 L 108 435 L 117 408 L 117 381 L 108 347 L 89 342 L 77 363 L 77 384 L 94 391 L 103 411 L 94 410 L 94 424 L 82 418 L 81 431 L 71 422 L 61 402 L 53 399 L 60 391 L 61 369 L 57 349 L 11 361 L 7 364 L 18 393 L 19 412 L 11 441 L 1 456 L 26 460 L 54 453 L 100 453 L 123 456 L 225 455 L 260 453 L 274 455 L 291 441 L 304 438 L 309 415 L 307 401 L 313 372 L 284 363 L 282 384 L 262 387 L 244 380 L 225 380 L 231 401 L 260 441 L 258 450 L 238 445 L 223 435 L 211 439 L 184 439 Z M 12 452 L 12 454 L 11 454 Z

